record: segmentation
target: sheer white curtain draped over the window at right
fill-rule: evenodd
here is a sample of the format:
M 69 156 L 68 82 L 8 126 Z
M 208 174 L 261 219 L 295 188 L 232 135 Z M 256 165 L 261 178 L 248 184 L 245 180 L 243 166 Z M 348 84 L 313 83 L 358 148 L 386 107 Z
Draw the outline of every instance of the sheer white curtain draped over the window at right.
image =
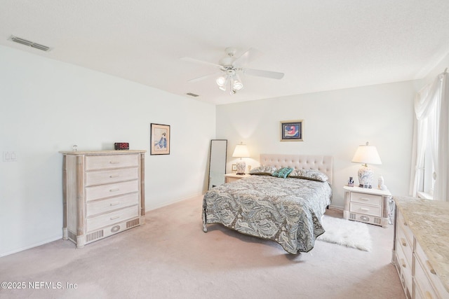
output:
M 424 153 L 429 141 L 434 158 L 436 181 L 434 199 L 448 201 L 449 184 L 449 84 L 445 71 L 430 85 L 424 86 L 415 97 L 413 127 L 412 171 L 410 195 L 416 197 L 422 181 Z

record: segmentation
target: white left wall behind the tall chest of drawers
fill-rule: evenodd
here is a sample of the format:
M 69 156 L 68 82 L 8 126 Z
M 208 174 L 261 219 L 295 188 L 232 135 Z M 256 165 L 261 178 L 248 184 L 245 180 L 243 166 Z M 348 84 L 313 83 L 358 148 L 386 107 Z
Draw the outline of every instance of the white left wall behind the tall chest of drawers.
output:
M 206 190 L 215 106 L 0 46 L 0 256 L 62 237 L 62 155 L 147 150 L 146 208 Z M 149 155 L 150 123 L 171 126 L 170 155 Z

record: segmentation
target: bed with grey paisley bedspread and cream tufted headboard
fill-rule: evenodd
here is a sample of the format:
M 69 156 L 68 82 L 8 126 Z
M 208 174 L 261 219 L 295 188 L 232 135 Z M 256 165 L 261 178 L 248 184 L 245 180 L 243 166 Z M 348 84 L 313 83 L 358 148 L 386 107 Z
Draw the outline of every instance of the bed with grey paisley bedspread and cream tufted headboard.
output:
M 220 223 L 272 240 L 288 253 L 310 251 L 324 232 L 321 217 L 332 200 L 333 157 L 261 154 L 260 165 L 249 177 L 206 192 L 203 231 L 207 232 L 208 224 Z M 284 178 L 279 170 L 285 167 L 295 170 Z M 278 170 L 274 175 L 281 177 L 267 169 Z

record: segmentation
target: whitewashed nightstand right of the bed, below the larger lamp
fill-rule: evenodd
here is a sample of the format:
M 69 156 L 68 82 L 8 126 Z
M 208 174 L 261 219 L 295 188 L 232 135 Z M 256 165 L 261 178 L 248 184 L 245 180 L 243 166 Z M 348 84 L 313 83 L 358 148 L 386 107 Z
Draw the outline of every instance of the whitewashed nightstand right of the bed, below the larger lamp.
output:
M 343 218 L 387 228 L 389 190 L 344 186 Z

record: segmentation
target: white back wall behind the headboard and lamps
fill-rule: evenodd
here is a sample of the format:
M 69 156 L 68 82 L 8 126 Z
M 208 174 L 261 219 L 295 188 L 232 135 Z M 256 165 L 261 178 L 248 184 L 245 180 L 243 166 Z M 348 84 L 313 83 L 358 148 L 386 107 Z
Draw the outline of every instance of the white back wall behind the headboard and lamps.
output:
M 360 165 L 351 159 L 360 144 L 377 147 L 382 165 L 371 165 L 375 183 L 382 174 L 394 195 L 408 195 L 416 81 L 293 95 L 217 106 L 217 138 L 232 151 L 248 144 L 247 164 L 258 166 L 260 153 L 333 155 L 333 206 L 344 206 L 342 186 L 349 176 L 358 183 Z M 281 120 L 304 120 L 304 141 L 280 139 Z

